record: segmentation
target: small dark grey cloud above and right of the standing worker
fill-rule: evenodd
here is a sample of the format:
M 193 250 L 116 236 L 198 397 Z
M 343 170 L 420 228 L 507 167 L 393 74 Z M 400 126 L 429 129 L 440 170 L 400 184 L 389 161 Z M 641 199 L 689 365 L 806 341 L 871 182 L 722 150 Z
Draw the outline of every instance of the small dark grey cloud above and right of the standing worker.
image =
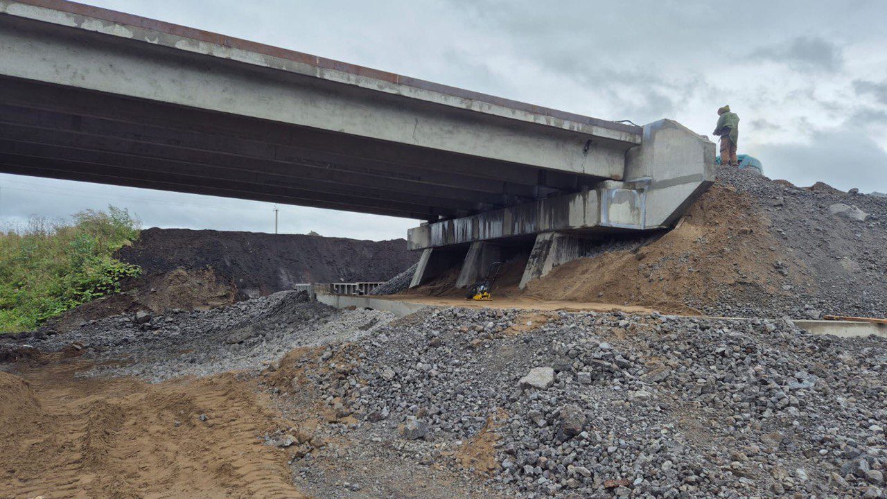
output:
M 800 72 L 838 71 L 844 67 L 841 47 L 812 36 L 798 36 L 779 44 L 761 47 L 752 51 L 748 59 L 773 60 Z

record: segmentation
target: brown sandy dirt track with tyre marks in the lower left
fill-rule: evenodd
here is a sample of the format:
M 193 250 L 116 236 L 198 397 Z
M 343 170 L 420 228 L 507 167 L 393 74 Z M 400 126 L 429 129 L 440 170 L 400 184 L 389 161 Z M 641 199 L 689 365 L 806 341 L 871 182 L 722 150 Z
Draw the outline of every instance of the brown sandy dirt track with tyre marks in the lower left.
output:
M 75 378 L 84 367 L 0 373 L 0 496 L 304 497 L 256 438 L 281 421 L 251 384 Z

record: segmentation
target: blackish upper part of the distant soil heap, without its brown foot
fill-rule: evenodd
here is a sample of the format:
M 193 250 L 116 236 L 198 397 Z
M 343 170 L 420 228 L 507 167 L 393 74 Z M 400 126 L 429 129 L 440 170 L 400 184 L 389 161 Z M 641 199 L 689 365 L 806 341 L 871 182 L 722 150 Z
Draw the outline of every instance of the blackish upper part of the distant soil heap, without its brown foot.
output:
M 299 282 L 388 281 L 418 261 L 403 239 L 373 242 L 303 234 L 158 229 L 142 231 L 117 257 L 145 273 L 211 268 L 237 299 Z

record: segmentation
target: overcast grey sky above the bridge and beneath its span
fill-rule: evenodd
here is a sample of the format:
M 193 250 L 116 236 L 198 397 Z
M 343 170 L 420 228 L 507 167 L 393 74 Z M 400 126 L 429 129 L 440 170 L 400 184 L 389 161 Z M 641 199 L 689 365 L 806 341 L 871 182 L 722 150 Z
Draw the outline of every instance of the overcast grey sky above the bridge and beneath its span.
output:
M 887 2 L 88 0 L 87 4 L 604 119 L 668 117 L 771 178 L 887 192 Z M 273 231 L 272 205 L 0 174 L 0 225 L 108 203 L 144 226 Z M 280 232 L 403 237 L 413 220 L 280 206 Z

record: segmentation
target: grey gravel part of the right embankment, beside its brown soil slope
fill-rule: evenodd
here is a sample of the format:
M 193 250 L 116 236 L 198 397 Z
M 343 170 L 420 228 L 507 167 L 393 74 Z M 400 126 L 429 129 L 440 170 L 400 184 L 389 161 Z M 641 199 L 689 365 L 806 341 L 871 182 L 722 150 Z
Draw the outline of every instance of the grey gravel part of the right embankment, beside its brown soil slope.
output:
M 735 299 L 721 289 L 707 313 L 819 318 L 821 313 L 884 317 L 887 313 L 887 199 L 845 193 L 824 184 L 809 188 L 772 181 L 746 170 L 719 167 L 718 182 L 750 194 L 767 212 L 770 231 L 793 250 L 786 259 L 803 263 L 810 287 L 795 287 L 789 297 L 766 296 L 757 303 Z M 852 189 L 852 191 L 854 191 Z

